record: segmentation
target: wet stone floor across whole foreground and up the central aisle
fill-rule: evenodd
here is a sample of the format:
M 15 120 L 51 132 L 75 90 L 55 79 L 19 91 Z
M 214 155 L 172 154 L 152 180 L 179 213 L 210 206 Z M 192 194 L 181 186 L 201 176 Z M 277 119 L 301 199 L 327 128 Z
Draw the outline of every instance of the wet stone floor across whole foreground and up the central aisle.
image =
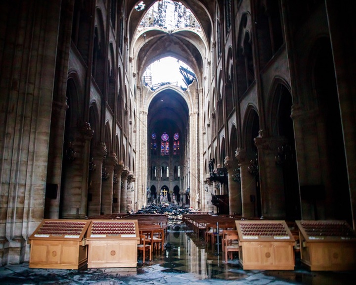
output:
M 31 269 L 28 263 L 0 267 L 1 285 L 351 285 L 356 272 L 311 272 L 296 257 L 294 271 L 243 270 L 237 256 L 227 264 L 218 245 L 208 246 L 182 226 L 170 230 L 165 251 L 137 269 Z

